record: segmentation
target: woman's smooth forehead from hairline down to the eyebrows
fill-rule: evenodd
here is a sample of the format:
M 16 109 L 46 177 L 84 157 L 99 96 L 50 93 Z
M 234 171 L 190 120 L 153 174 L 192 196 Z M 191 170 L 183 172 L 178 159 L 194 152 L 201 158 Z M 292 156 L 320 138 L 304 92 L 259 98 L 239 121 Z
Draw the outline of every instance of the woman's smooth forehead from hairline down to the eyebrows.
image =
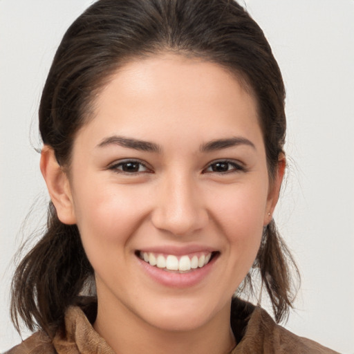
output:
M 168 140 L 173 133 L 203 140 L 239 132 L 249 138 L 260 135 L 256 101 L 236 75 L 183 55 L 125 64 L 98 93 L 93 111 L 86 125 L 102 135 L 158 140 Z

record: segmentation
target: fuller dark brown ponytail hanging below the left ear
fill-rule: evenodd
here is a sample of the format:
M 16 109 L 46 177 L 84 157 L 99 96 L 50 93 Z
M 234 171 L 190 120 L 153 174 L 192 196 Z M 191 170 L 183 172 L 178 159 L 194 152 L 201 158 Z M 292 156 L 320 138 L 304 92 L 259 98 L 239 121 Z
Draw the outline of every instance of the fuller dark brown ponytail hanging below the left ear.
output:
M 53 203 L 48 209 L 46 234 L 15 271 L 10 311 L 18 331 L 21 317 L 30 330 L 39 327 L 51 336 L 93 269 L 77 226 L 61 223 Z

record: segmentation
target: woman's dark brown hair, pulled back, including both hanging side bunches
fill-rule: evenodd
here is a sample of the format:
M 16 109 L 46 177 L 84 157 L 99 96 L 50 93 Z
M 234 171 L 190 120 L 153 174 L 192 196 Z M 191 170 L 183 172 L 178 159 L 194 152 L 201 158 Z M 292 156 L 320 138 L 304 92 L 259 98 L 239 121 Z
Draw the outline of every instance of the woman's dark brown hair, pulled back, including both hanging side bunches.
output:
M 68 166 L 73 140 L 95 95 L 129 59 L 174 52 L 232 71 L 257 98 L 270 178 L 286 134 L 285 88 L 261 28 L 232 0 L 99 0 L 68 28 L 48 73 L 39 108 L 44 144 Z M 292 304 L 295 263 L 274 221 L 266 227 L 253 270 L 259 270 L 279 322 Z M 76 225 L 64 225 L 52 203 L 48 230 L 19 264 L 12 282 L 12 321 L 50 334 L 93 274 Z M 252 272 L 242 288 L 251 285 Z

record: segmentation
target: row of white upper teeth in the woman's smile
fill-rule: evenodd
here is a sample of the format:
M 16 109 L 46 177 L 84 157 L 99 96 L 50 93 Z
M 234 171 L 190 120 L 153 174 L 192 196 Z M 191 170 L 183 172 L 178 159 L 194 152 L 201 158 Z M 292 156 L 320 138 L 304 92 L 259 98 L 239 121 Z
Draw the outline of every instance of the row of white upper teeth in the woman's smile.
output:
M 158 268 L 165 268 L 167 270 L 178 270 L 186 272 L 191 269 L 202 268 L 207 264 L 212 257 L 211 253 L 201 254 L 200 256 L 194 255 L 191 258 L 185 255 L 178 259 L 174 254 L 164 256 L 163 254 L 153 254 L 152 252 L 140 252 L 140 258 L 150 265 L 156 265 Z

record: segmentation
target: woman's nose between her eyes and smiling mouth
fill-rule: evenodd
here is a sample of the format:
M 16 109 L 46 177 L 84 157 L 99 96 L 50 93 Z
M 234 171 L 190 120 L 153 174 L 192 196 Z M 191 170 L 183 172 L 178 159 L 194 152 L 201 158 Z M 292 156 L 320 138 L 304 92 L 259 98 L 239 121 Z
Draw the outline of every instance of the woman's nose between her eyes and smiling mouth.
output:
M 190 176 L 164 178 L 158 186 L 152 223 L 159 230 L 176 236 L 202 230 L 208 222 L 203 192 Z

